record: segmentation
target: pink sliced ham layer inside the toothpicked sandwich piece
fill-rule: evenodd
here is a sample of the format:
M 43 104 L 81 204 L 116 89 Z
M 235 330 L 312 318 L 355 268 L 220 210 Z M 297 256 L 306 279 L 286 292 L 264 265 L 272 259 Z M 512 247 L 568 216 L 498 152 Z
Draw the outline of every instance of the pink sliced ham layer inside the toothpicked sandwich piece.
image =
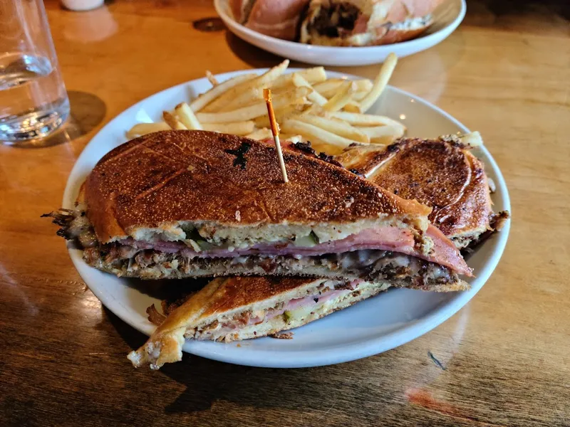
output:
M 445 265 L 455 270 L 457 273 L 472 276 L 472 270 L 463 260 L 460 252 L 453 243 L 445 237 L 435 226 L 427 228 L 427 236 L 432 238 L 433 250 L 429 254 L 424 254 L 415 245 L 413 235 L 407 228 L 380 227 L 363 230 L 347 238 L 338 241 L 328 241 L 318 243 L 310 247 L 294 246 L 289 243 L 262 243 L 251 248 L 234 249 L 214 248 L 207 251 L 194 251 L 183 242 L 142 242 L 132 238 L 125 239 L 120 243 L 134 246 L 139 249 L 155 249 L 165 253 L 179 253 L 188 258 L 230 258 L 242 255 L 297 255 L 297 256 L 318 256 L 326 253 L 343 253 L 351 251 L 361 251 L 366 249 L 393 251 L 412 255 L 432 263 Z

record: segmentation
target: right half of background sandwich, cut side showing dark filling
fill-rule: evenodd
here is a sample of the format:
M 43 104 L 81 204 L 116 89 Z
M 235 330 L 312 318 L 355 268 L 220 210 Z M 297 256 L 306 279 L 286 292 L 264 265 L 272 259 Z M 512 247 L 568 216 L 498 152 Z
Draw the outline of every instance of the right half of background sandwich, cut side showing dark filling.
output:
M 301 43 L 376 46 L 410 40 L 432 24 L 442 0 L 311 0 Z

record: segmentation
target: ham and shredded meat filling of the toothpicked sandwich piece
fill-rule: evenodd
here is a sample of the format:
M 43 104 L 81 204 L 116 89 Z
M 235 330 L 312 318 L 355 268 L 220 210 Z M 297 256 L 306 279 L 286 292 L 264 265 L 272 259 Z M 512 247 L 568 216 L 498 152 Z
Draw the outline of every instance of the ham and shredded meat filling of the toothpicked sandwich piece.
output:
M 315 275 L 330 278 L 396 280 L 401 285 L 461 283 L 471 275 L 455 246 L 437 228 L 427 235 L 429 253 L 402 228 L 366 230 L 340 241 L 264 243 L 250 248 L 217 247 L 207 242 L 154 243 L 123 241 L 102 244 L 86 215 L 86 206 L 49 214 L 62 228 L 58 235 L 78 241 L 90 265 L 120 276 L 147 279 L 242 275 Z

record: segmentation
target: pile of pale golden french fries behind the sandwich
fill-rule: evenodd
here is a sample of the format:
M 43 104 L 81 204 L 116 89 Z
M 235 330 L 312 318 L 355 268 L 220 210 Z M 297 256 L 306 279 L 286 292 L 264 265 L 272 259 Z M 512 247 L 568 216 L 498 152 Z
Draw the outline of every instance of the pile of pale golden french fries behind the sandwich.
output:
M 375 80 L 327 78 L 323 67 L 284 73 L 284 60 L 266 73 L 242 74 L 219 83 L 206 72 L 212 88 L 190 103 L 162 115 L 164 122 L 139 123 L 129 138 L 160 130 L 210 130 L 252 139 L 271 138 L 263 89 L 273 93 L 281 140 L 307 142 L 338 154 L 351 144 L 390 144 L 405 126 L 389 117 L 366 114 L 390 80 L 398 58 L 391 53 Z

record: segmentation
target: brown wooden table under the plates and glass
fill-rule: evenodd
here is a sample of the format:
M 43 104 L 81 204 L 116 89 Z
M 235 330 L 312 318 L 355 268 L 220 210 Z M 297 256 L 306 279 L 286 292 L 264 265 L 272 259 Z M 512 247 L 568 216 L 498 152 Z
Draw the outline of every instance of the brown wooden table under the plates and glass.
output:
M 211 1 L 116 0 L 84 13 L 46 1 L 74 121 L 63 144 L 0 146 L 0 425 L 570 426 L 565 4 L 469 1 L 462 26 L 401 60 L 391 81 L 480 130 L 507 179 L 507 250 L 469 305 L 358 362 L 253 369 L 186 355 L 151 372 L 125 358 L 145 337 L 87 290 L 39 216 L 60 206 L 78 154 L 126 107 L 206 67 L 279 58 L 193 28 L 215 16 Z

